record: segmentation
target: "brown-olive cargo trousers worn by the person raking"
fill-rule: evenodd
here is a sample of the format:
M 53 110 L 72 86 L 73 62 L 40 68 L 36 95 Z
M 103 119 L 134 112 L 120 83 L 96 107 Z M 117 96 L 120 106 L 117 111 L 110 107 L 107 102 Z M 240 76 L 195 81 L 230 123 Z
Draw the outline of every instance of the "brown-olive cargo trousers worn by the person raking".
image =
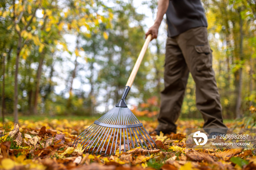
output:
M 223 124 L 207 28 L 197 27 L 167 39 L 165 89 L 161 92 L 157 130 L 176 133 L 175 122 L 180 115 L 189 72 L 196 83 L 196 107 L 203 115 L 203 128 L 227 128 Z M 219 132 L 226 133 L 225 130 Z

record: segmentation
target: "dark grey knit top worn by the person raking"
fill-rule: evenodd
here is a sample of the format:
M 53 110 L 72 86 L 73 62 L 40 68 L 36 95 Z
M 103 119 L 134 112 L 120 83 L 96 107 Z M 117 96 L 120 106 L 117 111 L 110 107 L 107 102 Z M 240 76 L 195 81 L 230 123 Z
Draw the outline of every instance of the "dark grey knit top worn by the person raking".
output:
M 200 0 L 170 0 L 166 11 L 168 36 L 174 37 L 195 27 L 207 27 Z

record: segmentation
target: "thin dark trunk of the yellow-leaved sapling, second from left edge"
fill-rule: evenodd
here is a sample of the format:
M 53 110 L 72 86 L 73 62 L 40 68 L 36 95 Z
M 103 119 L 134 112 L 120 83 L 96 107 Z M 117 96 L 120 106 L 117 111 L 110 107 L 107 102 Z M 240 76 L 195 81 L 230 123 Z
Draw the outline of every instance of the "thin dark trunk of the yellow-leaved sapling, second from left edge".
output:
M 20 48 L 21 48 L 22 38 L 19 35 L 18 39 L 18 46 L 17 46 L 17 56 L 16 56 L 16 69 L 14 75 L 14 123 L 18 123 L 18 71 L 19 71 L 19 55 L 20 55 Z

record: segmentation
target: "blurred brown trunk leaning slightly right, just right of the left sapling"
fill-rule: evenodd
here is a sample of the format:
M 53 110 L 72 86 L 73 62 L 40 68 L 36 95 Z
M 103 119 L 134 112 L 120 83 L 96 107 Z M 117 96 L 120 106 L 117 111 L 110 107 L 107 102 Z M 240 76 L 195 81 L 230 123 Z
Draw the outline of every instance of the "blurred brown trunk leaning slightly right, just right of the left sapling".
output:
M 35 93 L 34 93 L 34 104 L 33 104 L 33 113 L 37 114 L 37 103 L 38 103 L 38 94 L 39 94 L 39 84 L 41 80 L 42 74 L 42 66 L 44 62 L 45 51 L 42 52 L 42 56 L 39 61 L 38 69 L 37 69 L 37 79 L 35 82 Z

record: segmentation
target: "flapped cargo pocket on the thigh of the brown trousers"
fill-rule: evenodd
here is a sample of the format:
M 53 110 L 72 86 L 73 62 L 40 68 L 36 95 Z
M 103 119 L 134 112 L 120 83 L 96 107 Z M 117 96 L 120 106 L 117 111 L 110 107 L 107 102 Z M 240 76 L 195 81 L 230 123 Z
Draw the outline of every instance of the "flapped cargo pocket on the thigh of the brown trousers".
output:
M 208 70 L 212 67 L 212 50 L 209 45 L 196 45 L 197 71 Z

